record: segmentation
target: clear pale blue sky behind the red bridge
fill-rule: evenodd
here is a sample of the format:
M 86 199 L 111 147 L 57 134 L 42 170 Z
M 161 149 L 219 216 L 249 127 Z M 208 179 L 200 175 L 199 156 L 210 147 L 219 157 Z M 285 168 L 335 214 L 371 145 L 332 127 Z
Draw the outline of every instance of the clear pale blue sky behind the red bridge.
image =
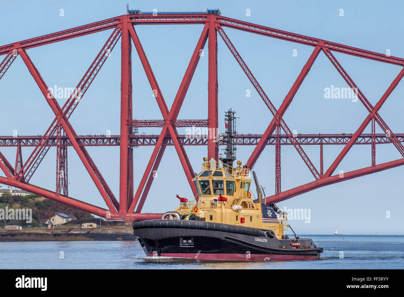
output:
M 8 44 L 43 34 L 123 15 L 126 4 L 142 11 L 221 10 L 222 15 L 259 25 L 315 38 L 322 38 L 378 53 L 404 57 L 404 44 L 398 33 L 403 29 L 404 4 L 380 6 L 375 1 L 0 1 L 0 44 Z M 202 4 L 201 4 L 202 3 Z M 339 16 L 339 10 L 344 16 Z M 59 16 L 59 10 L 64 16 Z M 251 15 L 246 16 L 250 9 Z M 202 25 L 139 25 L 140 41 L 164 99 L 171 106 L 185 69 L 196 46 Z M 278 108 L 313 51 L 303 46 L 265 36 L 225 28 L 226 34 Z M 99 32 L 27 50 L 48 86 L 74 87 L 93 61 L 111 30 Z M 297 57 L 292 53 L 297 50 Z M 400 72 L 401 67 L 335 53 L 354 82 L 373 105 Z M 194 78 L 185 97 L 179 119 L 207 117 L 208 48 L 205 47 Z M 133 116 L 137 119 L 161 119 L 158 105 L 133 47 Z M 219 128 L 224 131 L 224 112 L 236 110 L 240 117 L 239 133 L 262 134 L 272 119 L 271 113 L 242 72 L 240 66 L 218 36 Z M 366 118 L 366 109 L 349 99 L 324 99 L 324 88 L 346 87 L 345 81 L 328 58 L 320 53 L 311 71 L 284 115 L 291 130 L 298 133 L 353 133 Z M 246 90 L 251 97 L 246 97 Z M 381 117 L 395 133 L 402 133 L 400 82 L 380 110 Z M 54 116 L 38 86 L 19 57 L 0 81 L 0 135 L 42 135 Z M 64 99 L 58 99 L 63 105 Z M 120 41 L 80 101 L 70 122 L 78 135 L 119 134 L 120 116 Z M 365 133 L 370 133 L 370 127 Z M 160 128 L 140 129 L 139 133 L 159 134 Z M 185 134 L 185 128 L 178 128 Z M 377 127 L 377 133 L 381 129 Z M 254 147 L 238 147 L 237 157 L 246 162 Z M 324 169 L 339 154 L 342 146 L 324 147 Z M 318 168 L 319 147 L 303 146 Z M 135 150 L 135 189 L 144 172 L 153 147 Z M 9 160 L 15 160 L 15 148 L 2 148 Z M 200 171 L 206 147 L 186 147 L 194 168 Z M 23 148 L 23 159 L 32 152 Z M 119 148 L 88 147 L 115 196 L 119 196 Z M 371 165 L 370 146 L 353 146 L 335 173 Z M 292 146 L 282 146 L 282 190 L 313 181 L 313 176 Z M 377 145 L 377 163 L 400 158 L 393 145 Z M 55 188 L 55 148 L 32 177 L 41 187 Z M 274 147 L 266 147 L 254 170 L 266 187 L 274 192 Z M 325 170 L 324 170 L 325 171 Z M 329 234 L 337 227 L 343 234 L 403 234 L 404 218 L 400 213 L 403 168 L 337 183 L 278 203 L 282 209 L 310 209 L 310 223 L 289 223 L 300 234 Z M 99 192 L 73 148 L 69 148 L 69 196 L 105 207 Z M 164 153 L 158 176 L 154 180 L 144 212 L 165 212 L 178 205 L 175 194 L 191 198 L 185 174 L 174 147 Z M 391 218 L 386 218 L 386 211 Z

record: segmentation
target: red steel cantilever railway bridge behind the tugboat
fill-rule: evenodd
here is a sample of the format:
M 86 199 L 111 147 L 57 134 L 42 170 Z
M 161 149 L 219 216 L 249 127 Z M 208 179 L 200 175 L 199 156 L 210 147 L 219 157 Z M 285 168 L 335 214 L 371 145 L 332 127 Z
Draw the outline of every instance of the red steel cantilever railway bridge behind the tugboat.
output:
M 191 55 L 191 60 L 185 71 L 182 82 L 179 86 L 177 95 L 170 109 L 164 101 L 164 96 L 160 91 L 158 82 L 151 70 L 145 52 L 143 51 L 141 42 L 136 33 L 136 26 L 139 25 L 174 25 L 174 24 L 203 24 L 203 30 L 199 40 L 195 46 L 194 53 Z M 234 44 L 229 40 L 225 33 L 226 28 L 238 29 L 251 34 L 260 34 L 263 36 L 278 38 L 290 42 L 312 46 L 314 48 L 309 59 L 305 63 L 300 73 L 297 73 L 296 80 L 290 88 L 290 91 L 284 98 L 280 107 L 276 108 L 268 96 L 261 88 L 259 82 L 255 79 L 250 69 L 240 57 Z M 27 54 L 27 49 L 43 46 L 61 40 L 76 38 L 86 34 L 93 34 L 103 30 L 110 30 L 111 35 L 106 40 L 104 46 L 90 64 L 87 72 L 84 74 L 73 94 L 67 99 L 63 106 L 60 106 L 51 93 L 49 93 L 46 82 L 42 79 L 40 73 L 36 69 L 34 62 Z M 278 29 L 273 29 L 253 23 L 238 21 L 228 17 L 223 17 L 218 10 L 207 10 L 202 12 L 184 12 L 184 13 L 141 13 L 141 11 L 128 11 L 126 15 L 106 19 L 103 21 L 83 25 L 80 27 L 67 29 L 65 31 L 56 32 L 20 42 L 14 42 L 0 46 L 0 55 L 4 56 L 0 64 L 0 79 L 4 76 L 13 61 L 19 57 L 27 66 L 30 74 L 34 78 L 40 91 L 44 95 L 44 100 L 47 101 L 51 110 L 55 114 L 55 118 L 50 122 L 48 130 L 41 136 L 0 136 L 0 147 L 16 147 L 17 153 L 14 166 L 6 160 L 0 152 L 0 168 L 4 176 L 0 176 L 0 183 L 18 187 L 27 190 L 34 194 L 44 196 L 46 198 L 76 207 L 77 209 L 88 211 L 95 215 L 101 215 L 107 219 L 115 220 L 142 220 L 161 218 L 161 214 L 141 213 L 143 204 L 149 192 L 153 181 L 152 172 L 157 170 L 164 150 L 167 145 L 174 145 L 179 156 L 185 175 L 189 182 L 192 192 L 197 196 L 196 188 L 191 179 L 194 177 L 194 170 L 187 158 L 185 145 L 207 145 L 208 158 L 218 160 L 219 144 L 223 141 L 215 142 L 213 137 L 202 135 L 200 137 L 189 137 L 189 135 L 179 135 L 177 127 L 207 127 L 218 128 L 218 82 L 217 82 L 217 37 L 225 42 L 234 56 L 240 67 L 260 95 L 263 103 L 267 106 L 272 114 L 272 121 L 262 135 L 248 134 L 237 135 L 234 139 L 238 145 L 254 145 L 255 149 L 249 157 L 246 165 L 248 168 L 253 168 L 260 154 L 263 152 L 266 145 L 275 145 L 275 193 L 267 197 L 267 203 L 279 202 L 299 194 L 353 179 L 370 173 L 383 171 L 404 164 L 404 134 L 395 134 L 387 123 L 381 118 L 378 111 L 380 110 L 387 97 L 397 86 L 404 75 L 404 68 L 398 76 L 391 82 L 389 88 L 385 91 L 380 100 L 375 106 L 371 105 L 366 96 L 360 91 L 358 86 L 349 77 L 342 65 L 337 61 L 333 52 L 353 55 L 356 57 L 371 59 L 381 63 L 390 63 L 394 65 L 404 66 L 404 59 L 398 57 L 386 56 L 384 54 L 366 51 L 360 48 L 354 48 L 343 44 L 303 36 L 290 32 L 284 32 Z M 105 60 L 121 39 L 121 102 L 120 102 L 120 135 L 94 135 L 80 136 L 74 131 L 73 126 L 69 122 L 69 117 L 80 103 L 86 90 L 95 79 L 97 73 L 105 63 Z M 161 111 L 163 120 L 133 120 L 132 116 L 132 42 L 135 50 L 139 55 L 143 65 L 147 79 L 149 80 L 151 89 L 156 94 L 156 101 Z M 198 65 L 200 58 L 200 50 L 202 50 L 206 42 L 208 42 L 208 115 L 207 119 L 203 120 L 179 120 L 177 116 L 181 109 L 181 105 L 187 93 L 187 89 L 191 82 L 192 76 Z M 119 49 L 118 49 L 119 51 Z M 330 63 L 335 66 L 339 74 L 347 82 L 348 86 L 355 90 L 358 99 L 363 103 L 368 115 L 364 118 L 362 124 L 352 134 L 293 134 L 288 128 L 282 116 L 285 114 L 288 106 L 292 102 L 293 97 L 297 93 L 299 86 L 305 79 L 314 61 L 318 55 L 326 55 Z M 0 87 L 5 87 L 4 85 Z M 371 123 L 372 133 L 362 134 L 366 126 Z M 376 123 L 381 127 L 384 134 L 376 134 Z M 132 127 L 161 127 L 160 135 L 133 135 Z M 282 133 L 282 134 L 281 134 Z M 403 158 L 376 164 L 376 144 L 393 143 L 397 150 L 402 154 Z M 337 158 L 332 162 L 329 168 L 323 169 L 322 147 L 323 145 L 341 145 L 342 150 Z M 87 146 L 119 146 L 120 147 L 120 188 L 119 197 L 116 198 L 107 183 L 103 179 L 96 164 L 88 154 Z M 154 146 L 153 153 L 145 168 L 143 177 L 135 188 L 133 181 L 133 147 L 151 145 Z M 281 191 L 281 175 L 280 175 L 280 148 L 281 145 L 293 145 L 302 158 L 302 162 L 307 165 L 313 181 L 286 191 Z M 316 168 L 307 154 L 302 148 L 302 145 L 319 145 L 320 146 L 320 168 Z M 335 169 L 343 160 L 349 149 L 353 145 L 370 145 L 369 150 L 369 166 L 362 169 L 353 170 L 341 175 L 333 175 Z M 56 154 L 56 189 L 47 190 L 29 183 L 32 175 L 40 165 L 42 159 L 50 149 L 55 146 Z M 81 162 L 93 179 L 97 189 L 99 190 L 107 208 L 88 204 L 86 202 L 74 199 L 68 195 L 68 175 L 67 175 L 67 147 L 72 146 L 78 154 Z M 27 160 L 23 160 L 21 147 L 31 147 L 32 153 Z

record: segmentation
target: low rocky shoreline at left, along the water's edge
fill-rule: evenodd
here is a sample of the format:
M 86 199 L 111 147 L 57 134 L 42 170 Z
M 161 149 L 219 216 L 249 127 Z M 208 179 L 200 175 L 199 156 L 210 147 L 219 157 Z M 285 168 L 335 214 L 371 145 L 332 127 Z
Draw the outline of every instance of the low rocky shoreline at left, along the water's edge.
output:
M 0 242 L 135 240 L 132 229 L 74 229 L 57 232 L 0 232 Z

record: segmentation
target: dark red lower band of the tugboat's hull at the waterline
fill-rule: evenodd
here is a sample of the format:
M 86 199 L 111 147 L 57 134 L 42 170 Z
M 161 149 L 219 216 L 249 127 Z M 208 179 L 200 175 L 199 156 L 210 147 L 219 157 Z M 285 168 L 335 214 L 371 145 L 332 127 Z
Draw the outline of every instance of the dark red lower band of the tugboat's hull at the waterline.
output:
M 147 254 L 153 257 L 156 254 Z M 204 253 L 162 253 L 162 257 L 190 258 L 210 261 L 297 261 L 316 260 L 320 256 L 309 255 L 259 255 L 259 254 L 204 254 Z

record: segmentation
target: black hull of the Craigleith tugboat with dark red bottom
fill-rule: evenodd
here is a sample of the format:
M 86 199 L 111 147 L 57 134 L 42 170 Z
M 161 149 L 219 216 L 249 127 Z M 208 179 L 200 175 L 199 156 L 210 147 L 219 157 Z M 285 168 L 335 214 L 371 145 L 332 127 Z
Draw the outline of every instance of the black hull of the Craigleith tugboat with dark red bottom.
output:
M 133 233 L 147 256 L 219 261 L 286 261 L 314 260 L 322 253 L 322 248 L 314 247 L 313 240 L 307 238 L 278 240 L 257 228 L 246 230 L 243 227 L 240 232 L 240 226 L 218 223 L 208 223 L 208 226 L 205 222 L 195 221 L 175 220 L 177 225 L 174 227 L 173 221 L 152 220 L 134 224 Z M 213 228 L 215 230 L 206 230 Z M 292 242 L 300 245 L 291 245 Z

